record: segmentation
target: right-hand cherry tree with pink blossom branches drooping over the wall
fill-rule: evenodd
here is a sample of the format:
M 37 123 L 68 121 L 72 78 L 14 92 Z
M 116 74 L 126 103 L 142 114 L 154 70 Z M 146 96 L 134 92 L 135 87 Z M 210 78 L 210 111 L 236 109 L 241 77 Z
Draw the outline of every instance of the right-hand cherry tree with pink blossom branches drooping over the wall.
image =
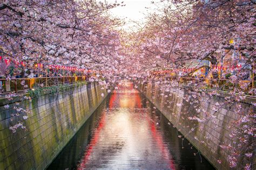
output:
M 132 63 L 136 64 L 131 67 L 130 71 L 137 77 L 143 77 L 143 82 L 146 81 L 146 77 L 149 77 L 150 70 L 187 68 L 187 65 L 196 60 L 208 60 L 211 65 L 223 65 L 223 58 L 228 53 L 232 53 L 232 60 L 228 63 L 230 67 L 238 65 L 239 62 L 244 63 L 242 68 L 227 69 L 226 74 L 232 73 L 232 76 L 225 83 L 221 84 L 221 80 L 215 80 L 217 83 L 211 87 L 215 88 L 215 91 L 214 94 L 208 96 L 209 100 L 220 95 L 220 90 L 226 86 L 228 86 L 231 96 L 218 103 L 213 114 L 205 112 L 202 108 L 197 108 L 196 103 L 200 102 L 202 93 L 205 93 L 206 84 L 204 82 L 188 81 L 186 85 L 180 86 L 180 80 L 182 80 L 180 78 L 186 77 L 190 73 L 178 75 L 171 82 L 167 82 L 165 77 L 150 77 L 163 84 L 161 87 L 163 94 L 164 89 L 171 87 L 190 91 L 190 95 L 186 96 L 184 100 L 192 103 L 199 113 L 203 112 L 206 115 L 206 118 L 190 117 L 186 118 L 187 121 L 214 121 L 214 114 L 221 106 L 228 104 L 236 108 L 235 113 L 241 118 L 233 123 L 239 126 L 239 130 L 231 132 L 232 144 L 221 145 L 230 154 L 228 161 L 231 167 L 236 167 L 238 160 L 246 155 L 248 162 L 245 168 L 250 168 L 252 154 L 254 154 L 252 148 L 255 145 L 252 131 L 255 130 L 253 126 L 255 114 L 252 114 L 253 109 L 241 113 L 239 104 L 246 98 L 246 94 L 255 96 L 256 92 L 252 86 L 253 77 L 246 76 L 248 67 L 251 75 L 255 73 L 253 70 L 255 65 L 254 13 L 254 1 L 171 1 L 165 4 L 161 12 L 157 11 L 148 16 L 146 25 L 142 30 L 133 33 L 129 48 L 127 48 L 128 51 L 131 51 L 127 53 L 129 56 L 127 60 L 132 60 Z M 200 66 L 195 69 L 198 68 Z M 211 68 L 208 75 L 213 72 Z M 195 69 L 191 70 L 191 73 Z M 225 77 L 224 74 L 220 78 L 223 79 L 223 77 Z M 248 82 L 241 83 L 245 77 Z M 208 78 L 211 79 L 211 77 Z M 198 87 L 201 88 L 198 89 Z M 255 103 L 252 103 L 251 108 L 253 107 L 255 107 Z M 190 108 L 187 109 L 188 111 Z M 196 126 L 191 127 L 191 132 L 196 128 L 200 129 Z M 184 136 L 186 135 L 184 134 Z

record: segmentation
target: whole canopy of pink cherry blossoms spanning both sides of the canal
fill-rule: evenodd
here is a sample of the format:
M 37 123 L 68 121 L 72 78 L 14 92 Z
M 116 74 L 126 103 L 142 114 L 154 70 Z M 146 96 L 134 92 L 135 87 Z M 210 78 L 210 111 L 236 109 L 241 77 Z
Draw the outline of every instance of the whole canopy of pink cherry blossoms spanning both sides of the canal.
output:
M 5 64 L 1 70 L 8 69 L 8 62 L 13 61 L 22 69 L 32 69 L 32 74 L 35 63 L 40 63 L 49 67 L 97 70 L 105 78 L 104 83 L 122 76 L 160 84 L 166 84 L 166 76 L 156 76 L 153 72 L 170 70 L 165 75 L 179 72 L 174 74 L 176 79 L 170 80 L 170 88 L 179 86 L 180 77 L 191 76 L 202 67 L 195 66 L 194 62 L 207 60 L 210 62 L 208 75 L 215 71 L 220 72 L 219 79 L 229 75 L 230 94 L 239 102 L 246 95 L 255 97 L 256 93 L 253 86 L 255 4 L 252 0 L 166 1 L 159 11 L 149 13 L 141 29 L 126 32 L 116 29 L 124 24 L 123 20 L 111 17 L 108 12 L 123 3 L 3 2 L 0 5 L 0 53 Z M 228 55 L 230 59 L 224 66 Z M 21 71 L 18 68 L 21 67 L 16 71 Z M 245 79 L 247 82 L 240 84 Z M 221 86 L 217 84 L 215 89 L 218 93 Z M 193 95 L 200 96 L 200 93 L 199 90 Z M 226 100 L 235 104 L 234 101 Z M 226 103 L 220 103 L 223 104 Z M 252 105 L 255 107 L 255 103 Z M 250 122 L 255 114 L 246 114 L 237 122 L 241 131 L 232 132 L 233 136 L 242 135 L 234 139 L 239 141 L 239 147 L 222 145 L 230 150 L 231 167 L 235 167 L 241 157 L 239 150 L 245 150 L 243 147 L 248 145 L 254 147 L 253 123 L 246 126 L 243 123 Z M 246 152 L 243 155 L 252 160 L 253 152 Z

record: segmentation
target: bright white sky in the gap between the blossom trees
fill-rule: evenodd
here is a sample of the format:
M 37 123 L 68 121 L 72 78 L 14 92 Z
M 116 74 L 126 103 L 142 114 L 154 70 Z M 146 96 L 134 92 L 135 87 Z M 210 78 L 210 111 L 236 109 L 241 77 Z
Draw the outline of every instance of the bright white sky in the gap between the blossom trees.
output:
M 156 9 L 156 5 L 152 4 L 153 0 L 97 0 L 101 2 L 107 3 L 121 3 L 124 2 L 126 6 L 118 6 L 117 8 L 111 9 L 110 12 L 113 16 L 117 16 L 118 18 L 125 18 L 126 25 L 123 26 L 124 29 L 131 29 L 132 26 L 136 25 L 131 21 L 135 22 L 145 22 L 145 15 L 148 11 L 152 11 Z M 159 2 L 160 0 L 154 0 L 154 2 Z M 159 3 L 157 3 L 159 4 Z M 146 8 L 150 8 L 146 9 Z

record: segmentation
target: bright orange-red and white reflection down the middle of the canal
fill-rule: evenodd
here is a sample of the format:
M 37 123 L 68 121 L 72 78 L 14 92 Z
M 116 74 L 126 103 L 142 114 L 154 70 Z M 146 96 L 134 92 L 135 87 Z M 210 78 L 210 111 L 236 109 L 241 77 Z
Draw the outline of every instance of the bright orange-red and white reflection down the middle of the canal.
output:
M 138 111 L 134 112 L 133 109 Z M 97 159 L 101 159 L 103 154 L 109 154 L 104 151 L 108 148 L 110 152 L 113 150 L 113 154 L 106 158 L 108 159 L 106 161 L 113 164 L 109 165 L 110 167 L 114 167 L 115 161 L 119 164 L 124 162 L 124 165 L 126 161 L 133 161 L 129 157 L 136 157 L 138 161 L 142 161 L 144 152 L 147 153 L 150 148 L 153 148 L 149 152 L 150 156 L 155 154 L 156 150 L 159 153 L 158 159 L 164 159 L 165 164 L 169 165 L 168 168 L 176 169 L 170 151 L 164 143 L 163 134 L 150 117 L 149 109 L 143 108 L 142 98 L 138 91 L 133 89 L 132 83 L 119 84 L 118 89 L 113 91 L 109 99 L 109 112 L 103 112 L 93 132 L 78 169 L 86 168 L 87 164 L 90 166 L 100 164 L 100 160 Z M 140 138 L 139 143 L 138 138 Z M 157 147 L 154 148 L 154 145 Z M 118 151 L 114 151 L 113 146 L 118 147 Z M 114 157 L 115 154 L 118 158 Z

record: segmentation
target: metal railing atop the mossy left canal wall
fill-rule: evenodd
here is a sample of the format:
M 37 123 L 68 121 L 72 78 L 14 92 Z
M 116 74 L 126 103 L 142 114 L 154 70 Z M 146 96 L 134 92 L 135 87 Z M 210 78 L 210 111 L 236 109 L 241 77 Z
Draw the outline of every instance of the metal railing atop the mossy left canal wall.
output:
M 65 77 L 33 77 L 33 78 L 15 78 L 0 79 L 0 94 L 19 92 L 25 89 L 37 87 L 59 86 L 60 84 L 75 84 L 85 82 L 90 76 L 65 76 Z

